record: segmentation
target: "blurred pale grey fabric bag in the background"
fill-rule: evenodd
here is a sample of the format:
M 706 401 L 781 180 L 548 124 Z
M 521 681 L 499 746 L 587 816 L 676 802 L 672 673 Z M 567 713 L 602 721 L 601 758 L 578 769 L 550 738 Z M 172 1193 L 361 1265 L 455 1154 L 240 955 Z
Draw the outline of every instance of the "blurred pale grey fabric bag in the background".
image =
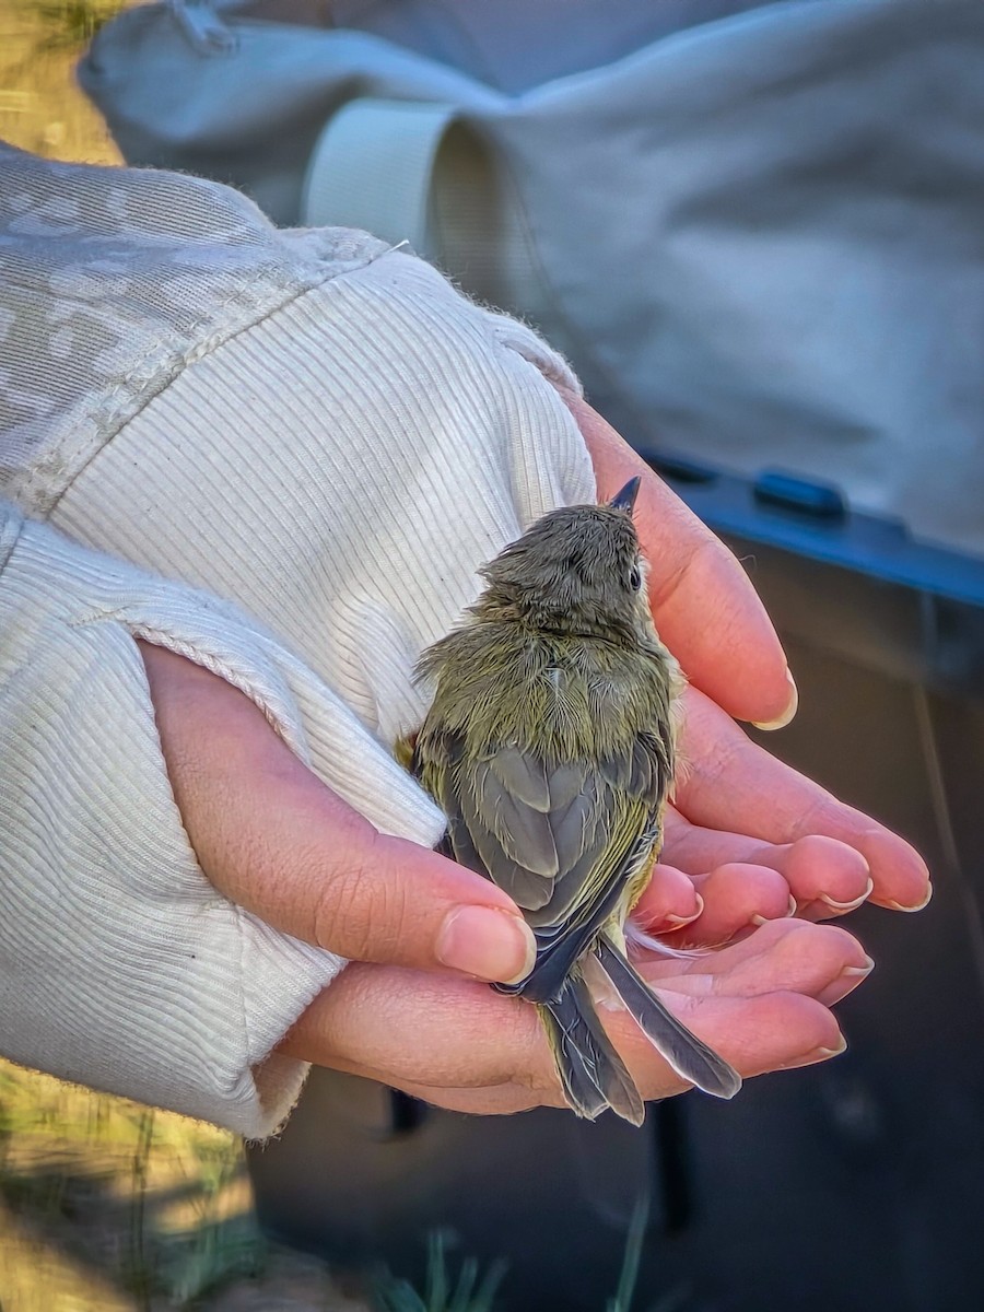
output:
M 428 253 L 632 443 L 980 556 L 983 67 L 980 0 L 152 0 L 80 81 L 127 159 L 281 223 L 307 180 L 411 236 L 430 174 Z M 430 168 L 405 115 L 447 106 Z

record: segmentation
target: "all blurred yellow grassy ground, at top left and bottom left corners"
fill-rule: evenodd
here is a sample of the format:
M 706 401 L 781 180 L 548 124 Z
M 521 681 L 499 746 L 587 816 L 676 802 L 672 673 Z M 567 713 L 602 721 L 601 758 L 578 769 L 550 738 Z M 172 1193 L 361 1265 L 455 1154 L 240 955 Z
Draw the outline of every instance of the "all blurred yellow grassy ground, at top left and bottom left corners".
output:
M 72 68 L 118 0 L 0 0 L 0 138 L 119 163 Z M 362 1312 L 256 1229 L 235 1136 L 0 1061 L 0 1312 Z

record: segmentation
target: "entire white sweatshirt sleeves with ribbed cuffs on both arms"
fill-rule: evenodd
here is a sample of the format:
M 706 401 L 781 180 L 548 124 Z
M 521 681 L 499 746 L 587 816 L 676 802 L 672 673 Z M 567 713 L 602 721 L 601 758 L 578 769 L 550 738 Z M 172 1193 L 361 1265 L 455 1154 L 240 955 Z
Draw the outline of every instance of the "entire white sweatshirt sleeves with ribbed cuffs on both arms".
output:
M 0 572 L 3 1051 L 262 1136 L 303 1067 L 257 1064 L 340 963 L 205 880 L 131 635 L 236 684 L 377 827 L 432 844 L 442 819 L 388 754 L 422 710 L 412 665 L 479 565 L 594 496 L 543 375 L 575 379 L 375 239 L 278 234 L 192 178 L 14 165 L 0 311 L 28 336 L 0 345 L 0 392 L 29 370 L 34 401 L 1 430 L 0 492 L 62 531 L 10 509 Z

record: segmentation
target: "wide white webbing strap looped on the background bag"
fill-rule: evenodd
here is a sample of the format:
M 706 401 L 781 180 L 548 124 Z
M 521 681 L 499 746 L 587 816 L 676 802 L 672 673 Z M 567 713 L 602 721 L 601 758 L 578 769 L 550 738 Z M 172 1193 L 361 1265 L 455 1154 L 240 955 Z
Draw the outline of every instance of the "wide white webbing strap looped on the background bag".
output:
M 384 241 L 409 241 L 436 258 L 428 211 L 441 142 L 457 109 L 401 100 L 353 100 L 315 146 L 300 222 L 363 228 Z

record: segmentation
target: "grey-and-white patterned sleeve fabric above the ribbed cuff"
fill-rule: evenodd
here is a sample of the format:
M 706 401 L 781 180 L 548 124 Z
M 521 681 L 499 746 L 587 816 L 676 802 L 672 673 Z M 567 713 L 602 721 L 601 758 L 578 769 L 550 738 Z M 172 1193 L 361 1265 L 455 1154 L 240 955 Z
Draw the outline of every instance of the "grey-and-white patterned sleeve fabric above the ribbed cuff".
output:
M 386 244 L 277 231 L 231 188 L 0 143 L 0 484 L 46 513 L 197 354 Z

